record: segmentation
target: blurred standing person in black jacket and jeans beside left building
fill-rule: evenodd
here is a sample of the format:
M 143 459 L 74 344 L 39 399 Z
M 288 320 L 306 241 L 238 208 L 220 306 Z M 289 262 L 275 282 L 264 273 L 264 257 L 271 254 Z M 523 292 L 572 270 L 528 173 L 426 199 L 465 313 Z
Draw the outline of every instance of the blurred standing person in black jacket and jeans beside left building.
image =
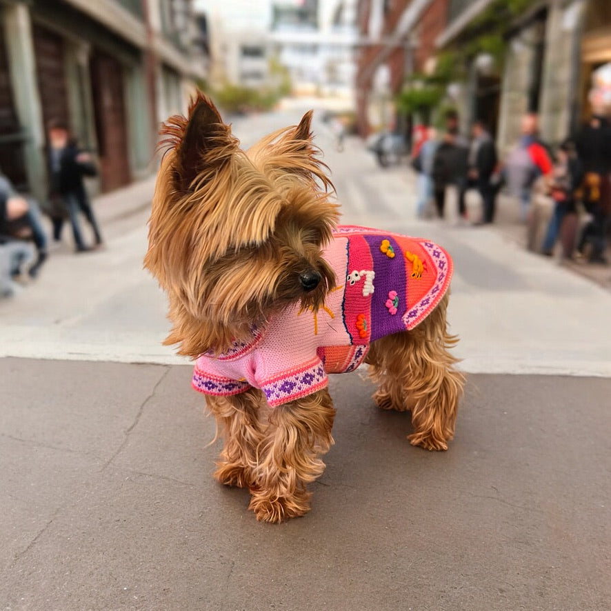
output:
M 80 150 L 70 138 L 68 126 L 61 121 L 50 121 L 48 125 L 49 168 L 51 177 L 51 198 L 61 197 L 72 226 L 76 252 L 90 250 L 83 239 L 79 222 L 82 212 L 91 226 L 95 246 L 101 246 L 102 237 L 91 203 L 83 183 L 84 176 L 95 176 L 97 170 L 90 153 Z M 55 239 L 61 237 L 63 219 L 53 219 Z

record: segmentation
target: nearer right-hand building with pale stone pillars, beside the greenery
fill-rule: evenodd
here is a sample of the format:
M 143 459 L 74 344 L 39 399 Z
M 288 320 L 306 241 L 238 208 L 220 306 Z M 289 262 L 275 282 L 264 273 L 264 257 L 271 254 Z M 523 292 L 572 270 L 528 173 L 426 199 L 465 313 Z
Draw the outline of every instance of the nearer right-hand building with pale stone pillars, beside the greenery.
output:
M 465 46 L 472 24 L 495 0 L 450 0 L 447 27 L 438 50 Z M 480 32 L 481 33 L 481 32 Z M 611 5 L 608 0 L 539 0 L 523 3 L 504 28 L 501 61 L 470 58 L 461 96 L 463 130 L 484 119 L 501 152 L 519 136 L 525 112 L 539 114 L 541 136 L 557 144 L 574 132 L 590 111 L 590 74 L 611 61 Z

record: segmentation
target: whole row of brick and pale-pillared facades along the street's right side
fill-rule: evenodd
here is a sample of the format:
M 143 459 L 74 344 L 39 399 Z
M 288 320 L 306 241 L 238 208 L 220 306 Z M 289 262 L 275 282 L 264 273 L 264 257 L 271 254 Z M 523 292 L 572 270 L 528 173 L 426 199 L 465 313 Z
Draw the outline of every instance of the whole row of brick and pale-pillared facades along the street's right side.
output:
M 539 114 L 541 137 L 552 145 L 572 134 L 591 110 L 592 73 L 611 61 L 611 3 L 532 0 L 509 6 L 499 0 L 361 0 L 361 134 L 388 127 L 405 79 L 430 74 L 442 55 L 456 57 L 443 104 L 457 108 L 465 134 L 474 119 L 482 119 L 502 153 L 519 137 L 526 112 Z M 497 44 L 492 50 L 491 40 Z

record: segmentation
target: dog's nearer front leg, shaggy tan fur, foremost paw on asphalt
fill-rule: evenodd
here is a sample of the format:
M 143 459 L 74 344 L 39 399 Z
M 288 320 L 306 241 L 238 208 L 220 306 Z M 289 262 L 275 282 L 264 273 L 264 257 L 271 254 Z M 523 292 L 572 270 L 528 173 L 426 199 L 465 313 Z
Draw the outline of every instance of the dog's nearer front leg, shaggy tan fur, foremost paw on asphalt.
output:
M 250 490 L 257 520 L 281 522 L 310 510 L 306 485 L 325 468 L 320 456 L 333 443 L 334 416 L 326 389 L 272 410 Z

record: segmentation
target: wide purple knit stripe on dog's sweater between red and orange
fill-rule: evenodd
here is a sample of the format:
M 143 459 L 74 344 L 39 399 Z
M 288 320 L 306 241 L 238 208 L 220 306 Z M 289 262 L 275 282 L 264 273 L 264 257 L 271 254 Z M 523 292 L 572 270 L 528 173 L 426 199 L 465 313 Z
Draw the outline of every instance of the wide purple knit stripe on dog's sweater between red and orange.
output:
M 380 250 L 380 245 L 384 239 L 390 242 L 394 250 L 392 259 Z M 376 274 L 373 281 L 375 290 L 371 301 L 371 341 L 375 341 L 385 335 L 405 331 L 405 323 L 403 323 L 401 317 L 407 308 L 405 296 L 408 294 L 408 284 L 405 257 L 397 241 L 390 235 L 366 235 L 365 240 L 371 250 L 373 269 Z M 397 314 L 394 315 L 390 314 L 386 307 L 388 293 L 392 290 L 396 291 L 399 297 Z

